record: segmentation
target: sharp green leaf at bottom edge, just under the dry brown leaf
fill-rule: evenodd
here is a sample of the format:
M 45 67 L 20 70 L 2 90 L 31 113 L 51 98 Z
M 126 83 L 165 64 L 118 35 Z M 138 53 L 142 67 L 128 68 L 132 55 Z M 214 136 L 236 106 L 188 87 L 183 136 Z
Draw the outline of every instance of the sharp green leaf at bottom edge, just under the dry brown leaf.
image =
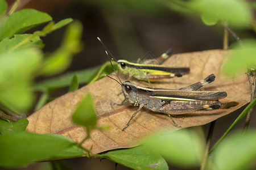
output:
M 146 146 L 109 151 L 98 156 L 131 169 L 168 169 L 168 165 L 162 156 Z

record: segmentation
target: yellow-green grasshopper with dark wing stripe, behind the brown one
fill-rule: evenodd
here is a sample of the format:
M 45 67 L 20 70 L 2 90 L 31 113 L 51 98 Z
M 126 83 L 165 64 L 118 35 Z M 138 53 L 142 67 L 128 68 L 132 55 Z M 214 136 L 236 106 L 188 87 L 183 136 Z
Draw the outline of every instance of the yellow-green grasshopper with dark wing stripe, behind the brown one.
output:
M 108 48 L 106 48 L 100 38 L 97 37 L 97 39 L 101 42 L 105 49 L 108 50 Z M 171 53 L 172 50 L 168 49 L 166 53 L 163 53 L 162 56 L 159 57 L 160 61 L 157 63 L 158 65 L 155 65 L 152 63 L 148 63 L 152 62 L 152 60 L 146 61 L 144 63 L 133 63 L 126 61 L 125 59 L 116 60 L 109 52 L 109 54 L 112 56 L 112 59 L 117 62 L 118 69 L 123 74 L 129 74 L 129 77 L 133 76 L 139 80 L 144 80 L 147 82 L 155 82 L 166 78 L 174 78 L 175 76 L 180 77 L 184 74 L 189 73 L 188 67 L 166 67 L 159 65 L 164 61 L 164 59 L 170 57 Z

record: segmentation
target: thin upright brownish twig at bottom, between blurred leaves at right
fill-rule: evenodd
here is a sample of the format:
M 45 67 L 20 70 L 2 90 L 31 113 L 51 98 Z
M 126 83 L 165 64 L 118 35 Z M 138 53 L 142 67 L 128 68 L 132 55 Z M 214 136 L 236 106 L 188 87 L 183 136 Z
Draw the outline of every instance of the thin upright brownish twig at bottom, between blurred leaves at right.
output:
M 209 132 L 208 132 L 207 143 L 206 143 L 205 152 L 204 152 L 204 160 L 201 164 L 200 170 L 204 170 L 206 165 L 207 165 L 207 160 L 208 160 L 208 155 L 209 155 L 209 150 L 210 150 L 210 144 L 212 143 L 212 134 L 213 134 L 213 129 L 214 129 L 215 122 L 216 121 L 212 121 L 210 123 L 210 129 L 209 129 Z

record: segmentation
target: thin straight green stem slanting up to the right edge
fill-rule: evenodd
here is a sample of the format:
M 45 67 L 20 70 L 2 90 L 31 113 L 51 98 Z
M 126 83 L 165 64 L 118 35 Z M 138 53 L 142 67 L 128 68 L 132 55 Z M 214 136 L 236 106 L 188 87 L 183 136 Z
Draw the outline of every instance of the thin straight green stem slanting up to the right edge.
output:
M 215 143 L 215 145 L 212 147 L 212 149 L 210 150 L 210 152 L 213 151 L 214 147 L 216 147 L 218 145 L 218 143 L 220 143 L 222 141 L 222 139 L 224 139 L 226 137 L 226 135 L 229 133 L 230 130 L 232 130 L 234 128 L 234 126 L 236 126 L 238 124 L 238 122 L 240 120 L 242 120 L 242 118 L 250 111 L 251 108 L 254 107 L 254 105 L 256 104 L 256 99 L 254 99 L 253 101 L 251 101 L 251 103 L 249 105 L 247 105 L 247 107 L 242 111 L 242 113 L 237 117 L 237 119 L 233 122 L 233 124 L 229 127 L 228 130 L 226 130 L 226 132 L 224 133 L 224 135 L 222 135 L 222 137 L 220 139 L 218 139 L 218 141 Z M 210 153 L 209 152 L 209 153 Z

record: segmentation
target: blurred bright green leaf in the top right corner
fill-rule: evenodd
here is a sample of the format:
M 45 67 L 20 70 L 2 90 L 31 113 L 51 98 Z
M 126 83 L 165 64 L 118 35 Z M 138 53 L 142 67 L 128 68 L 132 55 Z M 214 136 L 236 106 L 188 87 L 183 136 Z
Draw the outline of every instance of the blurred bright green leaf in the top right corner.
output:
M 217 15 L 229 25 L 248 27 L 253 20 L 249 3 L 241 0 L 200 0 L 189 3 L 193 10 L 204 15 Z

